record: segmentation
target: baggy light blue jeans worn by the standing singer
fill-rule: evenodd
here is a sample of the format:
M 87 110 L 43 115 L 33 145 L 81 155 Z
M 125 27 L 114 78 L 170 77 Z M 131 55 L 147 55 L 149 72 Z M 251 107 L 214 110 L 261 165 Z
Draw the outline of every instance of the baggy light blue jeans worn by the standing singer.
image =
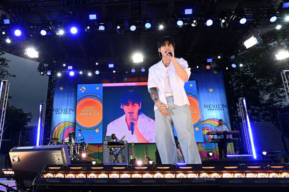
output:
M 177 164 L 177 150 L 173 125 L 177 131 L 186 164 L 201 164 L 198 146 L 194 137 L 193 120 L 188 105 L 177 106 L 174 97 L 166 97 L 169 116 L 156 109 L 156 145 L 163 164 Z

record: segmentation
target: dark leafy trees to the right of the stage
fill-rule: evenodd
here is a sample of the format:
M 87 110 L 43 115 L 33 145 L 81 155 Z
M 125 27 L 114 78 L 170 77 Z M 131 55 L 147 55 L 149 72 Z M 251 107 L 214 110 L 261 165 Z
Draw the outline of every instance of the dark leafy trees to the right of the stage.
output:
M 285 48 L 287 40 L 279 42 Z M 271 121 L 288 132 L 289 107 L 280 72 L 288 70 L 288 58 L 276 60 L 275 54 L 280 44 L 265 45 L 235 56 L 238 64 L 232 71 L 232 81 L 236 97 L 245 97 L 252 121 Z

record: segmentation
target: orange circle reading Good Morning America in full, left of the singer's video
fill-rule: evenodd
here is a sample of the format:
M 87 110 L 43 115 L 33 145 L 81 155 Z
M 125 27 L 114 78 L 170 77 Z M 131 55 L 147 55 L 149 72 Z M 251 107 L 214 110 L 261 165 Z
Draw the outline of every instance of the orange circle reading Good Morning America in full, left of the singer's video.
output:
M 76 106 L 76 122 L 83 127 L 94 127 L 102 121 L 102 103 L 98 99 L 85 98 Z

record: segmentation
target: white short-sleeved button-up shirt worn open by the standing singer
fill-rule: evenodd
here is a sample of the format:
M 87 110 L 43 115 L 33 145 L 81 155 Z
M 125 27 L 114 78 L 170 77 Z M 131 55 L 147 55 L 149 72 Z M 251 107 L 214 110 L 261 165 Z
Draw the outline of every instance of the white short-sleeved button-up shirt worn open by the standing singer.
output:
M 188 62 L 184 59 L 176 58 L 177 62 L 186 70 L 188 74 L 188 79 L 191 75 L 191 71 L 188 69 Z M 167 100 L 165 99 L 165 73 L 166 73 L 166 67 L 163 64 L 163 61 L 159 61 L 158 63 L 154 64 L 149 68 L 149 78 L 147 82 L 147 88 L 150 91 L 150 88 L 156 87 L 158 91 L 158 97 L 161 103 L 168 105 Z M 183 106 L 185 104 L 190 104 L 188 101 L 188 97 L 186 95 L 186 91 L 184 89 L 185 82 L 183 81 L 179 75 L 177 74 L 177 71 L 175 69 L 175 66 L 172 62 L 170 62 L 168 66 L 168 76 L 170 79 L 170 85 L 173 91 L 174 96 L 174 103 L 178 106 Z M 154 106 L 154 111 L 158 109 L 156 105 Z

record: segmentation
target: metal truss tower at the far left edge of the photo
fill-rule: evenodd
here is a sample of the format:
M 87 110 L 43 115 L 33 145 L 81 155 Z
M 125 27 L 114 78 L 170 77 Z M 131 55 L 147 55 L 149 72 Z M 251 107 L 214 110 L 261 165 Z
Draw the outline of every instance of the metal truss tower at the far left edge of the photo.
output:
M 4 128 L 4 121 L 5 121 L 5 114 L 6 114 L 6 107 L 7 107 L 7 100 L 8 100 L 8 93 L 9 93 L 9 81 L 8 80 L 1 80 L 0 84 L 0 110 L 1 110 L 1 119 L 0 119 L 0 150 L 1 150 L 1 143 L 2 143 L 2 136 L 3 136 L 3 128 Z

